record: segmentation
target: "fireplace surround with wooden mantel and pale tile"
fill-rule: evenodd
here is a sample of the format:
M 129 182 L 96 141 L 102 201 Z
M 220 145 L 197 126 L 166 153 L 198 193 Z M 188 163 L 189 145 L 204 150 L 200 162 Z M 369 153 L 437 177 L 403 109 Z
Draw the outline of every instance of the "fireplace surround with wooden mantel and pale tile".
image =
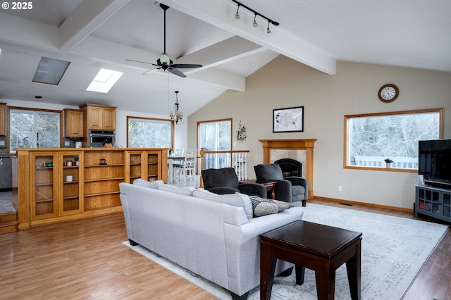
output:
M 309 180 L 309 197 L 313 192 L 313 154 L 316 139 L 259 139 L 263 146 L 263 163 L 292 158 L 302 163 L 302 175 Z

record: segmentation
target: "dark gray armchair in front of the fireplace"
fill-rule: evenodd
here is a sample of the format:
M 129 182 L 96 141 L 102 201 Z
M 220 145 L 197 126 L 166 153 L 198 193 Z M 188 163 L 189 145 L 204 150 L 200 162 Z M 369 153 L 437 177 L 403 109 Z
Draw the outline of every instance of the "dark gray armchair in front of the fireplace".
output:
M 302 206 L 306 206 L 309 195 L 309 182 L 304 177 L 283 177 L 282 169 L 276 163 L 266 165 L 255 165 L 255 175 L 257 180 L 269 180 L 276 182 L 276 199 L 297 205 L 302 201 Z

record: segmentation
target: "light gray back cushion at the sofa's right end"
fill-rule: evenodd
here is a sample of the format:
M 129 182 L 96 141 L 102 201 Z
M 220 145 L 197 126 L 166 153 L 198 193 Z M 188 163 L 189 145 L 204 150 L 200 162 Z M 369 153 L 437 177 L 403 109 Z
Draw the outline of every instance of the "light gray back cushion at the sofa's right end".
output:
M 218 195 L 209 192 L 206 189 L 196 189 L 194 192 L 192 192 L 192 196 L 200 199 L 206 199 L 232 206 L 242 207 L 245 210 L 247 219 L 252 219 L 252 202 L 249 196 L 247 196 L 246 194 L 235 193 Z

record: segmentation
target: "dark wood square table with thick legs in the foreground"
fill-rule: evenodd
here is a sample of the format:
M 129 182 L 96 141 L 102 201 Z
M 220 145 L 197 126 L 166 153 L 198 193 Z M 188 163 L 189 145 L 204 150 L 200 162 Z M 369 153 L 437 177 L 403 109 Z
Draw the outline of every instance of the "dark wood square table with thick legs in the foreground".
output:
M 305 268 L 315 271 L 318 299 L 333 299 L 335 270 L 346 263 L 352 299 L 361 299 L 362 232 L 296 221 L 260 235 L 260 299 L 270 299 L 277 258 L 296 265 L 296 283 Z

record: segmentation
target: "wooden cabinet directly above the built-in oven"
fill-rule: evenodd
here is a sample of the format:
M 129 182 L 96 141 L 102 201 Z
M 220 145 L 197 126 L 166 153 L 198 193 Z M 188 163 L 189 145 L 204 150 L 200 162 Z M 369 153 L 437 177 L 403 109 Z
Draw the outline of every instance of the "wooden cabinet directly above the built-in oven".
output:
M 97 104 L 85 104 L 80 106 L 85 111 L 87 130 L 116 130 L 116 107 Z

